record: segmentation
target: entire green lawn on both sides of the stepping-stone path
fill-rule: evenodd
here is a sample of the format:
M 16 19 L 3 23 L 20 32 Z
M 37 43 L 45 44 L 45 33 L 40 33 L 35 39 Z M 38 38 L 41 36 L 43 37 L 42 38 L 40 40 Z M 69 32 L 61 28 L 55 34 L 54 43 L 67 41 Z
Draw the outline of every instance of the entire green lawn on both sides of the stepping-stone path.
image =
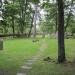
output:
M 41 40 L 41 39 L 40 39 Z M 75 62 L 56 64 L 58 48 L 56 39 L 43 39 L 47 44 L 42 57 L 32 65 L 32 69 L 26 71 L 27 75 L 75 75 Z M 28 59 L 36 55 L 42 41 L 33 43 L 31 39 L 4 40 L 4 50 L 0 51 L 0 75 L 16 75 Z M 65 40 L 66 58 L 68 61 L 75 60 L 75 39 Z M 50 57 L 51 62 L 43 61 Z

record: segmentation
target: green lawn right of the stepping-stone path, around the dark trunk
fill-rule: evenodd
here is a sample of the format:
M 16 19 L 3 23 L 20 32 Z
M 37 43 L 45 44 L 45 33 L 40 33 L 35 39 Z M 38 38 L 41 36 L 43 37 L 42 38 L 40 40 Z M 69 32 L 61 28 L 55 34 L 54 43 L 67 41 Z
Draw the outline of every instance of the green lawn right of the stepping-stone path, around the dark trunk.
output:
M 43 56 L 34 65 L 33 69 L 27 72 L 27 75 L 75 75 L 75 39 L 65 40 L 66 58 L 68 61 L 65 64 L 57 64 L 57 40 L 45 39 L 48 48 L 43 53 Z M 51 57 L 52 61 L 43 61 L 47 56 Z

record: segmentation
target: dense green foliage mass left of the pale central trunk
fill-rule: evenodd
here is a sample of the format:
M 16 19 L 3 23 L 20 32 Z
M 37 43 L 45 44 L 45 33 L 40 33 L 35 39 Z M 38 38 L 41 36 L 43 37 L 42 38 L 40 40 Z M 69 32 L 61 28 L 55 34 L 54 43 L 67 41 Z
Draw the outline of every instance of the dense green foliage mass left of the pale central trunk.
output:
M 27 3 L 25 0 L 5 1 L 2 10 L 3 21 L 1 22 L 3 30 L 7 29 L 6 33 L 12 33 L 12 29 L 15 30 L 15 33 L 25 32 L 26 28 L 30 29 L 33 14 L 34 11 L 28 0 Z M 9 31 L 9 29 L 11 30 Z

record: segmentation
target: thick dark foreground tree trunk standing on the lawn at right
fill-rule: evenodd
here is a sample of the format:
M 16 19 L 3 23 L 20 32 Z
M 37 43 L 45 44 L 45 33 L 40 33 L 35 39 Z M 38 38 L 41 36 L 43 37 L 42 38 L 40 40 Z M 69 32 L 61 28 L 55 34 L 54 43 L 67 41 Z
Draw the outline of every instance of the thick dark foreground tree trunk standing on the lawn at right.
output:
M 65 45 L 64 45 L 64 2 L 63 0 L 57 0 L 58 2 L 58 62 L 63 63 L 65 61 Z

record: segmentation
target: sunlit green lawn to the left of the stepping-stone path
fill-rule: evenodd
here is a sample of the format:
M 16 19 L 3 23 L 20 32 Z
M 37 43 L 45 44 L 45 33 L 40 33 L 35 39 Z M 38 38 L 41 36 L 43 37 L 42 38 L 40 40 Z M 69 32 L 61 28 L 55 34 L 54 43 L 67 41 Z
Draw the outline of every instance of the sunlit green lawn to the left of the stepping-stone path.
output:
M 16 75 L 20 66 L 36 54 L 40 44 L 31 39 L 4 40 L 4 50 L 0 51 L 0 75 Z

